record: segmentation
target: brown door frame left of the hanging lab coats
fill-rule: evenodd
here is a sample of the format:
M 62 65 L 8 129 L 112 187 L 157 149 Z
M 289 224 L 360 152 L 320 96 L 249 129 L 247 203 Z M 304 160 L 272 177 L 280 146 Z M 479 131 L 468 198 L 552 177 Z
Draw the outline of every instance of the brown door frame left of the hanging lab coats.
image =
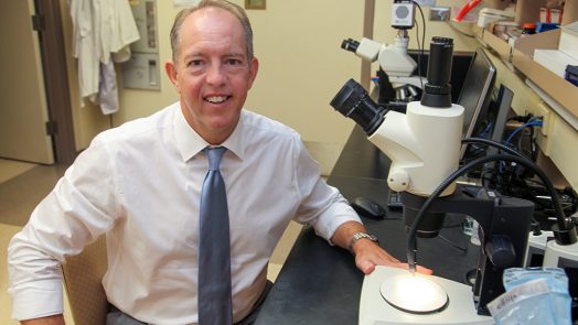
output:
M 66 53 L 62 26 L 61 1 L 34 0 L 40 17 L 39 42 L 49 121 L 56 163 L 71 164 L 78 154 L 74 139 L 71 94 L 66 71 Z

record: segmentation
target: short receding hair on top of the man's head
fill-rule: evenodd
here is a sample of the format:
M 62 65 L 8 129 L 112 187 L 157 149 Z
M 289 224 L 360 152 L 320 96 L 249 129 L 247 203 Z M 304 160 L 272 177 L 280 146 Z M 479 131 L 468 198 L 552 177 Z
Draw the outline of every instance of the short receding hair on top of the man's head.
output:
M 179 51 L 181 50 L 181 28 L 183 24 L 183 21 L 193 12 L 204 9 L 204 8 L 221 8 L 223 10 L 226 10 L 233 15 L 235 15 L 238 21 L 240 22 L 240 25 L 243 26 L 243 32 L 245 34 L 245 43 L 247 46 L 247 59 L 250 62 L 253 59 L 254 53 L 253 53 L 253 29 L 250 28 L 249 18 L 247 17 L 247 13 L 245 13 L 245 10 L 240 8 L 239 6 L 226 1 L 226 0 L 202 0 L 199 2 L 197 6 L 185 8 L 181 10 L 176 17 L 174 18 L 174 23 L 171 29 L 171 50 L 172 50 L 172 59 L 176 63 L 176 59 L 179 58 Z

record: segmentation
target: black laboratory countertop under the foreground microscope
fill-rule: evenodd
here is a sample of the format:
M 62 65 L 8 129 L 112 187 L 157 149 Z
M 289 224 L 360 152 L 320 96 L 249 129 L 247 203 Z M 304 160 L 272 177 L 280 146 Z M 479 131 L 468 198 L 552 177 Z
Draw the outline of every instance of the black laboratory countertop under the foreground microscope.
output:
M 385 207 L 388 169 L 387 156 L 355 127 L 328 183 L 350 201 L 365 196 Z M 407 239 L 400 213 L 387 210 L 383 220 L 362 219 L 383 248 L 406 260 Z M 419 238 L 417 260 L 438 277 L 464 282 L 467 272 L 475 268 L 479 247 L 462 234 L 461 220 L 449 216 L 441 236 Z M 357 324 L 363 279 L 349 251 L 331 247 L 311 227 L 303 227 L 255 324 Z

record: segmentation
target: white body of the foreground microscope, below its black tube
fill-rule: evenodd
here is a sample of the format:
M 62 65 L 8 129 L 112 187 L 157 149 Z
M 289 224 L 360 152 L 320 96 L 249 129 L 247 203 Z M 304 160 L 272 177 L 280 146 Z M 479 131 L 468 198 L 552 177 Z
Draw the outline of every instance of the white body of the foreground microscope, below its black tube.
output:
M 387 111 L 367 139 L 390 160 L 387 184 L 396 192 L 427 196 L 458 166 L 461 106 L 435 109 L 407 106 L 407 112 Z M 442 195 L 452 193 L 450 186 Z

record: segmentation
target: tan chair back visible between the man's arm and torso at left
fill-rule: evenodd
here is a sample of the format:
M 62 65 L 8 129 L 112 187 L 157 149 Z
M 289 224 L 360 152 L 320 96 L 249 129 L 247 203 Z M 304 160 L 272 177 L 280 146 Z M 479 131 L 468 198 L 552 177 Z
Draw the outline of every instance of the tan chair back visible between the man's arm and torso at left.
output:
M 88 245 L 78 256 L 68 257 L 62 266 L 64 286 L 76 325 L 106 323 L 108 302 L 101 280 L 107 267 L 106 236 Z

